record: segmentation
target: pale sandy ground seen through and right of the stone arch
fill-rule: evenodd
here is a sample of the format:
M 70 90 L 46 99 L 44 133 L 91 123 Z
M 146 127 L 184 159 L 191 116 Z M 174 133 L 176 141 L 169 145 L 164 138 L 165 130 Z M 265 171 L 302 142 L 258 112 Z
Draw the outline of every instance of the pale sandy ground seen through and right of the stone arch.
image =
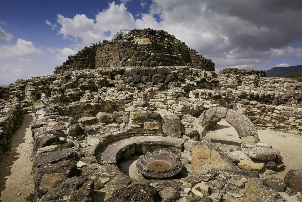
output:
M 261 175 L 261 178 L 276 176 L 284 179 L 288 170 L 302 168 L 302 136 L 296 135 L 295 133 L 283 133 L 270 129 L 258 130 L 258 135 L 260 142 L 271 144 L 273 148 L 279 150 L 285 165 L 284 171 L 274 175 Z M 214 139 L 214 142 L 220 145 L 220 147 L 236 149 L 237 146 L 241 145 L 241 139 L 238 137 L 236 130 L 230 126 L 225 119 L 218 122 L 218 128 L 213 131 L 208 131 L 206 136 Z

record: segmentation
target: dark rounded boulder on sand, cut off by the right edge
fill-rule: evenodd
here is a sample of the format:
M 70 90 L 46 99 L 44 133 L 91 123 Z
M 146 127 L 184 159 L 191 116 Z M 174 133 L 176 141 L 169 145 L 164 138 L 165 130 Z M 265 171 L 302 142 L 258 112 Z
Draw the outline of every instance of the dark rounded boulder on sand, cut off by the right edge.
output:
M 284 177 L 284 182 L 288 188 L 292 188 L 294 191 L 302 191 L 302 169 L 289 170 Z

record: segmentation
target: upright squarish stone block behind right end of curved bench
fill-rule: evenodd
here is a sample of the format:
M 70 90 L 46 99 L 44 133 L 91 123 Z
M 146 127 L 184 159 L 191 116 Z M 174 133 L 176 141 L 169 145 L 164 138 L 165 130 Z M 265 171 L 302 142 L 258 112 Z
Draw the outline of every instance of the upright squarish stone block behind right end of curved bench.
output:
M 180 118 L 175 115 L 164 115 L 161 118 L 162 131 L 166 136 L 180 137 L 182 129 Z

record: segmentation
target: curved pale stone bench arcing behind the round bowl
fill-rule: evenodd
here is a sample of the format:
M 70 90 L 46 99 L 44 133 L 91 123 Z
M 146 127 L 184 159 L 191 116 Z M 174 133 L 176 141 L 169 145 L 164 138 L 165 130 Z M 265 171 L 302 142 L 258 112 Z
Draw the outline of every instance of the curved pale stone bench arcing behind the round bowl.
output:
M 119 159 L 135 154 L 141 145 L 168 145 L 182 149 L 185 140 L 171 136 L 139 136 L 122 139 L 108 145 L 101 152 L 101 164 L 117 165 Z M 141 151 L 141 149 L 139 149 Z

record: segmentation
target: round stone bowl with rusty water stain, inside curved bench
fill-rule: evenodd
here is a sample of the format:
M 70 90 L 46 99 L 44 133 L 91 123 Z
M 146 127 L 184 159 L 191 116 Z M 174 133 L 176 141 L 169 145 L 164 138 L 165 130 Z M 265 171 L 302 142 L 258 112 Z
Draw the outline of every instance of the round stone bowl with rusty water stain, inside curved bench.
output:
M 137 170 L 147 179 L 172 179 L 182 170 L 182 161 L 170 152 L 147 152 L 137 160 Z

